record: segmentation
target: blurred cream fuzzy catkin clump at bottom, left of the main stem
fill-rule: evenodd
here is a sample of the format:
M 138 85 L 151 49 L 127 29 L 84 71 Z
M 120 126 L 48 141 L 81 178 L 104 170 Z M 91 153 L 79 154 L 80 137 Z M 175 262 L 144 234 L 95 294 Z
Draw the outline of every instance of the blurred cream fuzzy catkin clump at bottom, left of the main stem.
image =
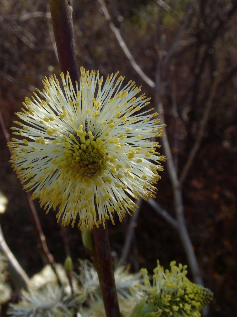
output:
M 14 317 L 72 317 L 78 301 L 71 294 L 63 266 L 56 265 L 56 271 L 58 276 L 47 265 L 35 274 L 30 280 L 28 291 L 22 290 L 22 300 L 9 305 L 8 314 Z M 59 286 L 58 277 L 62 287 Z

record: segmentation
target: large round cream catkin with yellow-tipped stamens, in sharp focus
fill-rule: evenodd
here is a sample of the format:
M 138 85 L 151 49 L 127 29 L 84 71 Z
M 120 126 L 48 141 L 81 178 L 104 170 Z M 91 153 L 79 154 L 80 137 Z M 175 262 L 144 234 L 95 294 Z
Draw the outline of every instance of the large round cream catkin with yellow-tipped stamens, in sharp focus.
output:
M 137 205 L 131 198 L 154 197 L 164 156 L 155 138 L 163 136 L 158 113 L 148 107 L 150 98 L 124 77 L 108 75 L 103 83 L 99 71 L 81 68 L 74 89 L 70 76 L 45 78 L 42 92 L 36 89 L 16 113 L 19 127 L 11 161 L 46 212 L 59 206 L 58 220 L 72 226 L 92 228 L 116 213 Z

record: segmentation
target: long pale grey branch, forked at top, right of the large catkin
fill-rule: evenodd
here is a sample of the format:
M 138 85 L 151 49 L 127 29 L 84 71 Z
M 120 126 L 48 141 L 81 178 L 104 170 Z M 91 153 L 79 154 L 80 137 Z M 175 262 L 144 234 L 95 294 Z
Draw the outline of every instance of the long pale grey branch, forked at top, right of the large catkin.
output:
M 187 23 L 188 23 L 190 14 L 191 14 L 191 10 L 190 10 L 191 7 L 190 6 L 192 5 L 192 3 L 190 3 L 189 10 L 188 10 L 187 15 L 185 17 L 184 23 L 182 24 L 182 26 L 177 34 L 176 40 L 174 41 L 170 51 L 167 53 L 166 58 L 164 60 L 162 60 L 162 57 L 158 58 L 159 65 L 157 67 L 156 82 L 154 83 L 150 78 L 148 78 L 143 73 L 143 71 L 140 69 L 140 67 L 138 66 L 138 64 L 134 60 L 133 55 L 130 53 L 125 42 L 123 41 L 119 30 L 116 29 L 114 24 L 111 22 L 111 19 L 110 19 L 109 13 L 105 7 L 104 1 L 103 0 L 98 0 L 98 1 L 101 4 L 101 7 L 102 7 L 102 10 L 103 10 L 103 13 L 104 13 L 106 19 L 109 21 L 109 26 L 110 26 L 111 30 L 115 33 L 115 36 L 116 36 L 120 46 L 122 47 L 125 55 L 127 56 L 128 60 L 130 61 L 132 67 L 150 87 L 153 87 L 156 89 L 156 93 L 155 93 L 156 94 L 156 103 L 158 105 L 160 119 L 162 120 L 162 122 L 164 122 L 163 103 L 161 102 L 161 99 L 160 99 L 161 98 L 161 89 L 162 89 L 162 81 L 161 81 L 161 77 L 160 77 L 161 69 L 163 68 L 163 70 L 164 70 L 164 66 L 166 66 L 168 64 L 168 61 L 170 60 L 171 55 L 173 54 L 173 52 L 175 51 L 175 48 L 177 47 L 177 45 L 180 42 L 181 36 L 183 34 L 185 27 L 187 26 Z M 164 65 L 164 62 L 165 62 L 165 65 Z M 164 132 L 165 132 L 165 129 L 164 129 Z M 179 231 L 181 241 L 184 245 L 185 253 L 186 253 L 186 256 L 187 256 L 188 261 L 189 261 L 189 265 L 190 265 L 190 269 L 192 271 L 194 281 L 197 284 L 203 285 L 202 276 L 200 274 L 200 270 L 199 270 L 199 267 L 197 264 L 196 256 L 195 256 L 195 253 L 194 253 L 194 250 L 192 247 L 192 243 L 191 243 L 191 240 L 190 240 L 190 237 L 188 234 L 188 230 L 187 230 L 186 224 L 185 224 L 184 208 L 183 208 L 183 201 L 182 201 L 182 189 L 181 189 L 181 184 L 178 180 L 178 175 L 177 175 L 177 171 L 175 169 L 174 161 L 172 158 L 168 138 L 167 137 L 162 138 L 162 143 L 163 143 L 163 146 L 165 148 L 165 155 L 168 157 L 167 164 L 168 164 L 168 172 L 169 172 L 172 187 L 173 187 L 175 211 L 176 211 L 176 218 L 177 218 L 177 229 Z M 164 214 L 167 215 L 168 213 L 165 211 Z

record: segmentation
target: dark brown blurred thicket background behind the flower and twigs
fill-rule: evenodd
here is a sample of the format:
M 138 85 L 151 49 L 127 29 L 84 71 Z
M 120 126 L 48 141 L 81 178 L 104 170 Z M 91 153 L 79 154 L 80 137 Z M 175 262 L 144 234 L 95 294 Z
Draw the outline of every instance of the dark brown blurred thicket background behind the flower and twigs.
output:
M 142 92 L 152 97 L 152 107 L 162 103 L 178 177 L 203 127 L 182 184 L 184 217 L 204 285 L 214 292 L 208 316 L 236 316 L 237 2 L 73 0 L 71 4 L 78 67 L 99 69 L 104 77 L 119 71 L 127 81 L 142 85 Z M 113 28 L 155 88 L 136 72 Z M 11 135 L 14 113 L 21 110 L 24 97 L 42 87 L 44 76 L 60 74 L 48 1 L 0 0 L 0 30 L 0 110 Z M 205 114 L 207 124 L 203 125 Z M 0 190 L 9 203 L 0 223 L 9 248 L 32 276 L 46 258 L 26 195 L 8 162 L 6 131 L 2 126 Z M 164 147 L 160 152 L 165 155 Z M 164 167 L 156 202 L 175 219 L 167 162 Z M 77 269 L 78 258 L 86 257 L 80 231 L 77 227 L 62 230 L 53 211 L 45 215 L 37 201 L 35 206 L 55 261 L 63 263 L 69 248 Z M 126 217 L 122 224 L 108 223 L 117 259 L 129 221 Z M 178 230 L 145 201 L 135 225 L 126 258 L 132 271 L 147 267 L 152 272 L 157 259 L 165 268 L 172 260 L 188 264 Z M 189 278 L 193 278 L 190 273 Z M 6 309 L 7 305 L 2 314 Z

